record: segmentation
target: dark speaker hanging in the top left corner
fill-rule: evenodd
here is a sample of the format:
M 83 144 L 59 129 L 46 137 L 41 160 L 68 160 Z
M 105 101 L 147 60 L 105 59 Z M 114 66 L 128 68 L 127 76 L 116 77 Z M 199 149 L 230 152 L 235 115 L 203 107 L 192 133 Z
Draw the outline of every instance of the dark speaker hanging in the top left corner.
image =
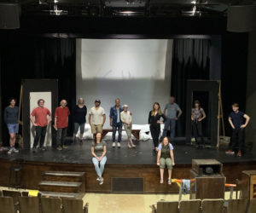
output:
M 20 5 L 19 3 L 0 2 L 0 29 L 20 28 Z

